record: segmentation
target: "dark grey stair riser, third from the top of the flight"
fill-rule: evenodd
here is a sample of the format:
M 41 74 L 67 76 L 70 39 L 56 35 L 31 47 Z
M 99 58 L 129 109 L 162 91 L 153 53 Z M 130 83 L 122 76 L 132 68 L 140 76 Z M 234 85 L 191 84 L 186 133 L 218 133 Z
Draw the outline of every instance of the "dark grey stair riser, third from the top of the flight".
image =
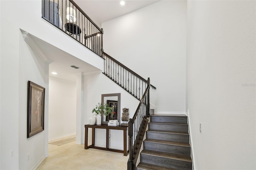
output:
M 164 140 L 170 142 L 189 143 L 189 136 L 183 134 L 170 134 L 158 132 L 146 132 L 147 139 Z

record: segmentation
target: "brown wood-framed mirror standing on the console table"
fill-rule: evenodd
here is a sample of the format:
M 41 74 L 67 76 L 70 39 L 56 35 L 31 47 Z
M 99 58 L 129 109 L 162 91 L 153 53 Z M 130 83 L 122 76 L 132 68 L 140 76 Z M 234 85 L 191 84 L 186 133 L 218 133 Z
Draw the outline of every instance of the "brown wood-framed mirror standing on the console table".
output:
M 101 95 L 101 104 L 104 105 L 104 103 L 108 103 L 110 102 L 111 104 L 116 103 L 117 102 L 117 120 L 119 123 L 121 123 L 121 105 L 120 105 L 120 101 L 121 101 L 121 93 L 111 93 L 111 94 L 102 94 Z M 116 107 L 116 105 L 115 105 Z M 101 124 L 108 124 L 108 120 L 106 119 L 106 121 L 103 121 L 103 113 L 101 114 L 102 119 L 101 119 Z

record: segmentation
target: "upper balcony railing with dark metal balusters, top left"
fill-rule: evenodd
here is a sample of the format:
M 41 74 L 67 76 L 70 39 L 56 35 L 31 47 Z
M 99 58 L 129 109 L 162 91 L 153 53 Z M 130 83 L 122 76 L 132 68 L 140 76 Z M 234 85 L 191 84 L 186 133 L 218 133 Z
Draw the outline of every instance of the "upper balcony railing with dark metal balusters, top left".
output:
M 42 0 L 42 18 L 102 57 L 103 30 L 73 0 Z

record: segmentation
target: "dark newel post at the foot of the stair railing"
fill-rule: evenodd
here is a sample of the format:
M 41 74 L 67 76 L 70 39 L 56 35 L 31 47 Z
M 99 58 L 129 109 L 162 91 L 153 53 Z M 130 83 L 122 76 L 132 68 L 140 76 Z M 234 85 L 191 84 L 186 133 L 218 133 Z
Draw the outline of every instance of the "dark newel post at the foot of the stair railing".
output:
M 129 136 L 129 160 L 127 162 L 127 170 L 133 170 L 133 149 L 132 149 L 132 135 L 133 135 L 133 129 L 132 129 L 132 119 L 129 119 L 128 122 L 128 136 Z

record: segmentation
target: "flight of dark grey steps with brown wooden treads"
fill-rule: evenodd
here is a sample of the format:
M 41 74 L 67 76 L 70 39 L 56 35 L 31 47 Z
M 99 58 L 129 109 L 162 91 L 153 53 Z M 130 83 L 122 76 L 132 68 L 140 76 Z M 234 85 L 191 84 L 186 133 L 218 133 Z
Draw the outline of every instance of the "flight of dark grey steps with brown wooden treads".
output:
M 186 115 L 151 115 L 137 170 L 192 170 Z

